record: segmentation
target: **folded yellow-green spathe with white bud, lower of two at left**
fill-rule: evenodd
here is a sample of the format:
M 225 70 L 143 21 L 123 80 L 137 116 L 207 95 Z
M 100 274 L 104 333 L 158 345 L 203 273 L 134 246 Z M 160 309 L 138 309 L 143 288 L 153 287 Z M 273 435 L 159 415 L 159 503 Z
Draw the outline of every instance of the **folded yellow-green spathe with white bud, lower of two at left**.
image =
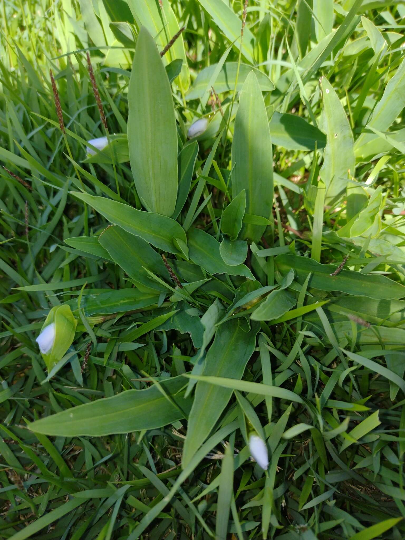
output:
M 77 320 L 70 306 L 53 307 L 36 341 L 48 371 L 55 366 L 75 339 Z

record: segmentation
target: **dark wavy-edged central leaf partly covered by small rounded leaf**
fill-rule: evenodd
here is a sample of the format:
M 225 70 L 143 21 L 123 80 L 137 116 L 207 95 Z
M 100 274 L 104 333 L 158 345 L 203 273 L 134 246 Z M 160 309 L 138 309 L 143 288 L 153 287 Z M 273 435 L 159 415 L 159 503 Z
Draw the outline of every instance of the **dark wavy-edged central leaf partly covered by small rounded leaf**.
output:
M 201 229 L 191 228 L 188 231 L 188 248 L 190 259 L 210 274 L 242 275 L 247 279 L 254 279 L 247 266 L 227 265 L 219 251 L 220 243 Z

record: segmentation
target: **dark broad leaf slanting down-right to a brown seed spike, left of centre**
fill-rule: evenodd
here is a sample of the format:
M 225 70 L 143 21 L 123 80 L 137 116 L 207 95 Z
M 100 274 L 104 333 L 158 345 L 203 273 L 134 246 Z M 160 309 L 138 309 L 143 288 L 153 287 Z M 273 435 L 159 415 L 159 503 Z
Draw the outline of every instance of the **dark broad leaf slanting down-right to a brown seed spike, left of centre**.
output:
M 110 225 L 100 234 L 100 244 L 134 281 L 140 284 L 144 292 L 167 292 L 164 285 L 153 281 L 146 268 L 170 282 L 170 275 L 160 255 L 140 237 L 135 237 L 117 225 Z M 136 284 L 137 285 L 137 284 Z

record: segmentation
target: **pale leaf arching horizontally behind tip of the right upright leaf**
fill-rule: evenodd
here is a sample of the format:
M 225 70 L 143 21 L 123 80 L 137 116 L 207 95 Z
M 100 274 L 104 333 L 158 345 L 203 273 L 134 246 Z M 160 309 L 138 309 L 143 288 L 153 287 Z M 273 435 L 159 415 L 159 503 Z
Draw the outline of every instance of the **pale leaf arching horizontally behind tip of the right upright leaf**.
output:
M 204 68 L 198 73 L 197 79 L 195 79 L 192 87 L 187 92 L 187 100 L 199 99 L 204 96 L 207 84 L 210 82 L 211 77 L 215 69 L 217 68 L 217 65 L 218 64 L 211 64 L 210 66 Z M 215 80 L 215 92 L 221 93 L 233 91 L 235 88 L 237 71 L 237 62 L 227 62 L 226 64 L 224 64 L 218 74 L 217 79 Z M 255 76 L 257 77 L 260 90 L 262 92 L 270 92 L 274 90 L 274 84 L 267 77 L 267 75 L 265 75 L 265 73 L 259 71 L 258 69 L 252 68 L 252 66 L 241 63 L 239 66 L 237 92 L 240 92 L 242 90 L 242 86 L 246 80 L 246 77 L 251 71 L 253 71 Z

